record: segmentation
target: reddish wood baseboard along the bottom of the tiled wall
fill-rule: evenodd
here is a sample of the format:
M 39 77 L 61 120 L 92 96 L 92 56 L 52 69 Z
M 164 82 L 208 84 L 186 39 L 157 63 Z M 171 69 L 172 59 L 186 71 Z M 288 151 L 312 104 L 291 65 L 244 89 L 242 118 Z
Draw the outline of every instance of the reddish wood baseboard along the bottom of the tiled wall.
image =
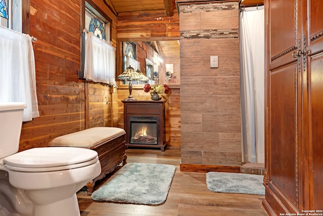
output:
M 202 164 L 180 164 L 181 172 L 207 173 L 207 172 L 226 172 L 241 173 L 240 166 L 217 166 Z

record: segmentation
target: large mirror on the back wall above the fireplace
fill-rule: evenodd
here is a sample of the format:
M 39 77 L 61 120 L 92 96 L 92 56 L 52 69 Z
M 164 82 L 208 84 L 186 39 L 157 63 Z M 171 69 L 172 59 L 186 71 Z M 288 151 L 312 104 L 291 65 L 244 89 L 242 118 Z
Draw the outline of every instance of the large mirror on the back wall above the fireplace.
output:
M 178 40 L 122 41 L 122 70 L 131 66 L 148 81 L 133 84 L 180 84 L 180 45 Z M 121 66 L 121 64 L 119 64 Z M 123 71 L 118 71 L 118 75 Z M 127 81 L 121 81 L 127 84 Z

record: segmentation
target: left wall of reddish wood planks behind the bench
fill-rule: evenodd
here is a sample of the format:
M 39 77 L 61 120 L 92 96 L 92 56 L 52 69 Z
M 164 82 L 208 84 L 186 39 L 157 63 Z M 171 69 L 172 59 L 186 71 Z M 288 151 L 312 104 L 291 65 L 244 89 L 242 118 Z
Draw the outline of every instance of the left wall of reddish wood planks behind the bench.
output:
M 102 1 L 90 2 L 113 20 L 112 44 L 116 46 L 117 18 Z M 111 106 L 116 104 L 116 95 L 106 85 L 77 77 L 82 4 L 81 0 L 30 0 L 30 35 L 38 39 L 33 47 L 40 117 L 23 123 L 19 151 L 46 146 L 52 138 L 84 130 L 86 125 L 118 124 L 118 109 Z

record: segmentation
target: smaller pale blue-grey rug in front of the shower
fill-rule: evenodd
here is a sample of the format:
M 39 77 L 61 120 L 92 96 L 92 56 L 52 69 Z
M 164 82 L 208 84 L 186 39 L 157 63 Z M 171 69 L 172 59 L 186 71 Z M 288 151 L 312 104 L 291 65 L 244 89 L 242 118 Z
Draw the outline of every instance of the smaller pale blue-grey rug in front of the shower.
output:
M 208 172 L 207 189 L 213 192 L 264 195 L 263 176 L 244 173 Z

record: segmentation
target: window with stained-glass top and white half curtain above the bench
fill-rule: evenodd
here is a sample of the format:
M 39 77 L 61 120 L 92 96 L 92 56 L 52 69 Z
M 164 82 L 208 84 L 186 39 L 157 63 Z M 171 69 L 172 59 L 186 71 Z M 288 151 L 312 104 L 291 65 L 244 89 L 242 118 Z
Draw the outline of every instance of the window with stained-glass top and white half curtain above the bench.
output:
M 110 45 L 111 25 L 92 6 L 85 2 L 85 30 L 82 35 L 82 71 L 79 78 L 115 84 L 115 47 Z M 100 11 L 101 12 L 101 11 Z M 101 12 L 102 13 L 102 12 Z M 102 13 L 103 14 L 103 13 Z

